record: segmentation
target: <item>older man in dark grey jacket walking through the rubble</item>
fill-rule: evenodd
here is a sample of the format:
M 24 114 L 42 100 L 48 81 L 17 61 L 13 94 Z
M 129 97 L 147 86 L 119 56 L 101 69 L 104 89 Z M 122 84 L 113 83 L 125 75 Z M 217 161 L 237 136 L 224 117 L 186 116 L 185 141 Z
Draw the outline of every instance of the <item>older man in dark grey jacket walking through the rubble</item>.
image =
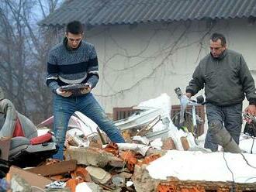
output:
M 205 87 L 209 125 L 205 147 L 216 151 L 219 144 L 225 151 L 240 153 L 238 144 L 244 95 L 249 101 L 245 111 L 256 114 L 254 79 L 244 57 L 227 50 L 225 36 L 213 33 L 209 48 L 210 53 L 199 62 L 186 87 L 186 96 L 190 98 Z

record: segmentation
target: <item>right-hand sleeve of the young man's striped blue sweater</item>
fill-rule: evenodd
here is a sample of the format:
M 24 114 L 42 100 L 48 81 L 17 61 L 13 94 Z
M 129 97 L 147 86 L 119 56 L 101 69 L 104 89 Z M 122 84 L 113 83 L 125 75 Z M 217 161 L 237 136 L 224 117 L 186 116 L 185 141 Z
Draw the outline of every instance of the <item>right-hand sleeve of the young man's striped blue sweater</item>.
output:
M 92 88 L 95 87 L 99 81 L 99 63 L 94 46 L 92 46 L 92 49 L 90 51 L 87 74 L 88 77 L 86 79 L 86 83 L 92 84 Z

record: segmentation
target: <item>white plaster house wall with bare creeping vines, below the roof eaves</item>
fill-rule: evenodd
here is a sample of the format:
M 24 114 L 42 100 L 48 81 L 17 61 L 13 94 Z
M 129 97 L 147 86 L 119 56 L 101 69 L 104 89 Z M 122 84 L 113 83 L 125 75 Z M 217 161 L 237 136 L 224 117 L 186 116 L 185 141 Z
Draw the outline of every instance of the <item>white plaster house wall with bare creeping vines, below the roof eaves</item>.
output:
M 100 81 L 94 90 L 107 112 L 129 107 L 161 93 L 178 104 L 175 87 L 185 86 L 209 53 L 209 34 L 224 33 L 228 47 L 243 53 L 256 79 L 256 24 L 247 19 L 95 27 L 85 32 L 98 52 Z M 199 94 L 202 94 L 201 91 Z

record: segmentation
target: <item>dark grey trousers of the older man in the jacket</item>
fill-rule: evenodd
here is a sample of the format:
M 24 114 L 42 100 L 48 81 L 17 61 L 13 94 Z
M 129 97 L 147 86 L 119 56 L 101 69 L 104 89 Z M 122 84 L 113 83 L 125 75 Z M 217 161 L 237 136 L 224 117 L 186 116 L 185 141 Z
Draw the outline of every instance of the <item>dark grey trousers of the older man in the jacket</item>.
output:
M 213 121 L 220 121 L 223 125 L 221 129 L 227 129 L 232 138 L 239 144 L 240 132 L 242 128 L 242 109 L 243 104 L 235 104 L 229 106 L 216 106 L 210 103 L 206 104 L 206 114 L 208 118 L 208 125 Z M 206 134 L 205 148 L 212 151 L 218 150 L 218 145 L 213 139 L 213 132 L 208 129 Z

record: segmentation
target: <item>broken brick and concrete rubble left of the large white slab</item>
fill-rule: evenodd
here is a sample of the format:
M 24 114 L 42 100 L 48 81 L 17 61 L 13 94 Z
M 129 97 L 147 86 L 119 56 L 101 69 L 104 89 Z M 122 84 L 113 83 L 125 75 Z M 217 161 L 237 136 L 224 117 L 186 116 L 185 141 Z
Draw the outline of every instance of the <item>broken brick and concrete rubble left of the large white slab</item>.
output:
M 132 179 L 135 166 L 148 164 L 164 154 L 148 150 L 143 155 L 139 148 L 135 144 L 120 150 L 115 143 L 102 149 L 69 146 L 65 161 L 48 159 L 40 166 L 24 170 L 11 166 L 6 180 L 12 183 L 12 191 L 33 191 L 33 187 L 45 191 L 137 191 Z

